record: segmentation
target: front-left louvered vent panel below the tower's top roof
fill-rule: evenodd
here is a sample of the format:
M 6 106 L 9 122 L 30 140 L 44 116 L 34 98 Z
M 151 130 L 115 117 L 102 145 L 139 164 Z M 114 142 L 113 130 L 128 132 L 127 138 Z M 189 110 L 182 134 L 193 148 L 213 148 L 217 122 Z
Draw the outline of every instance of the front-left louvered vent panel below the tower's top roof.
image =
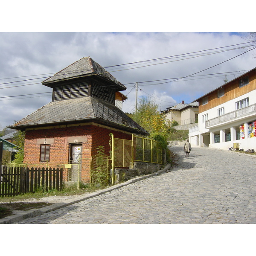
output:
M 53 101 L 88 96 L 88 82 L 57 86 L 53 90 Z

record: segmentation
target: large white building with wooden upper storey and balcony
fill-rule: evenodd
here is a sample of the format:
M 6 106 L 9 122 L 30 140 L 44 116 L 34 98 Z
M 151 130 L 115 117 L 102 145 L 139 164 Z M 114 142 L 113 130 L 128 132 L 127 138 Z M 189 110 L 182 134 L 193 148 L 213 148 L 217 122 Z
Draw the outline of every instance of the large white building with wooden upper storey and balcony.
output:
M 195 100 L 198 127 L 189 129 L 192 147 L 256 148 L 256 68 Z

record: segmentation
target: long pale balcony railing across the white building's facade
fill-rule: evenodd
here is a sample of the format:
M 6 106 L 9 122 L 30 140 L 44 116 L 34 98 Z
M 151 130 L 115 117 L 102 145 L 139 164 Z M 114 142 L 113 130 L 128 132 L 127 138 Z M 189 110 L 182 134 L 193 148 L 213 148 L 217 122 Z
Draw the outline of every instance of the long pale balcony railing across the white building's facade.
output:
M 248 116 L 253 113 L 256 113 L 256 104 L 250 105 L 245 108 L 240 108 L 236 111 L 232 111 L 222 116 L 217 116 L 215 118 L 209 119 L 205 122 L 205 128 L 208 128 L 213 125 L 218 125 L 220 123 L 227 122 L 242 116 Z

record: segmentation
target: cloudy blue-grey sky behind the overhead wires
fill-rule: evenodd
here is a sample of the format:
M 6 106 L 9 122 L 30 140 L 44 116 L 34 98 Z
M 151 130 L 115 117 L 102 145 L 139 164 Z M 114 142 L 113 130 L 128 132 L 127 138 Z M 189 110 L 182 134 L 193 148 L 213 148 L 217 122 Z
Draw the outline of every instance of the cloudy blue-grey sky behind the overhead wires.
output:
M 136 82 L 139 99 L 150 97 L 159 110 L 165 110 L 183 100 L 192 102 L 221 86 L 225 75 L 230 81 L 256 67 L 256 49 L 253 49 L 256 44 L 250 43 L 247 32 L 152 32 L 151 29 L 130 32 L 136 31 L 132 26 L 131 30 L 126 29 L 129 32 L 122 32 L 122 27 L 113 27 L 110 31 L 119 32 L 101 32 L 105 29 L 99 26 L 94 30 L 99 32 L 64 32 L 62 26 L 61 32 L 55 32 L 58 30 L 54 26 L 53 32 L 47 32 L 52 31 L 47 26 L 17 32 L 11 26 L 3 30 L 0 127 L 12 125 L 14 120 L 49 103 L 51 89 L 41 82 L 87 56 L 127 87 L 122 92 L 128 96 L 123 111 L 129 113 L 135 109 Z

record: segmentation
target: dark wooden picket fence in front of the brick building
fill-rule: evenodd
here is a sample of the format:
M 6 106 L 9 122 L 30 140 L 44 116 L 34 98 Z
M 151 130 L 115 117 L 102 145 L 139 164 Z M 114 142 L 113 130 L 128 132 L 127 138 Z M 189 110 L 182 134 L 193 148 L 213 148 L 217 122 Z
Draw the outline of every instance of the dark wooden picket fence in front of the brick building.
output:
M 63 169 L 6 166 L 0 169 L 0 197 L 34 193 L 39 188 L 42 191 L 62 190 Z

